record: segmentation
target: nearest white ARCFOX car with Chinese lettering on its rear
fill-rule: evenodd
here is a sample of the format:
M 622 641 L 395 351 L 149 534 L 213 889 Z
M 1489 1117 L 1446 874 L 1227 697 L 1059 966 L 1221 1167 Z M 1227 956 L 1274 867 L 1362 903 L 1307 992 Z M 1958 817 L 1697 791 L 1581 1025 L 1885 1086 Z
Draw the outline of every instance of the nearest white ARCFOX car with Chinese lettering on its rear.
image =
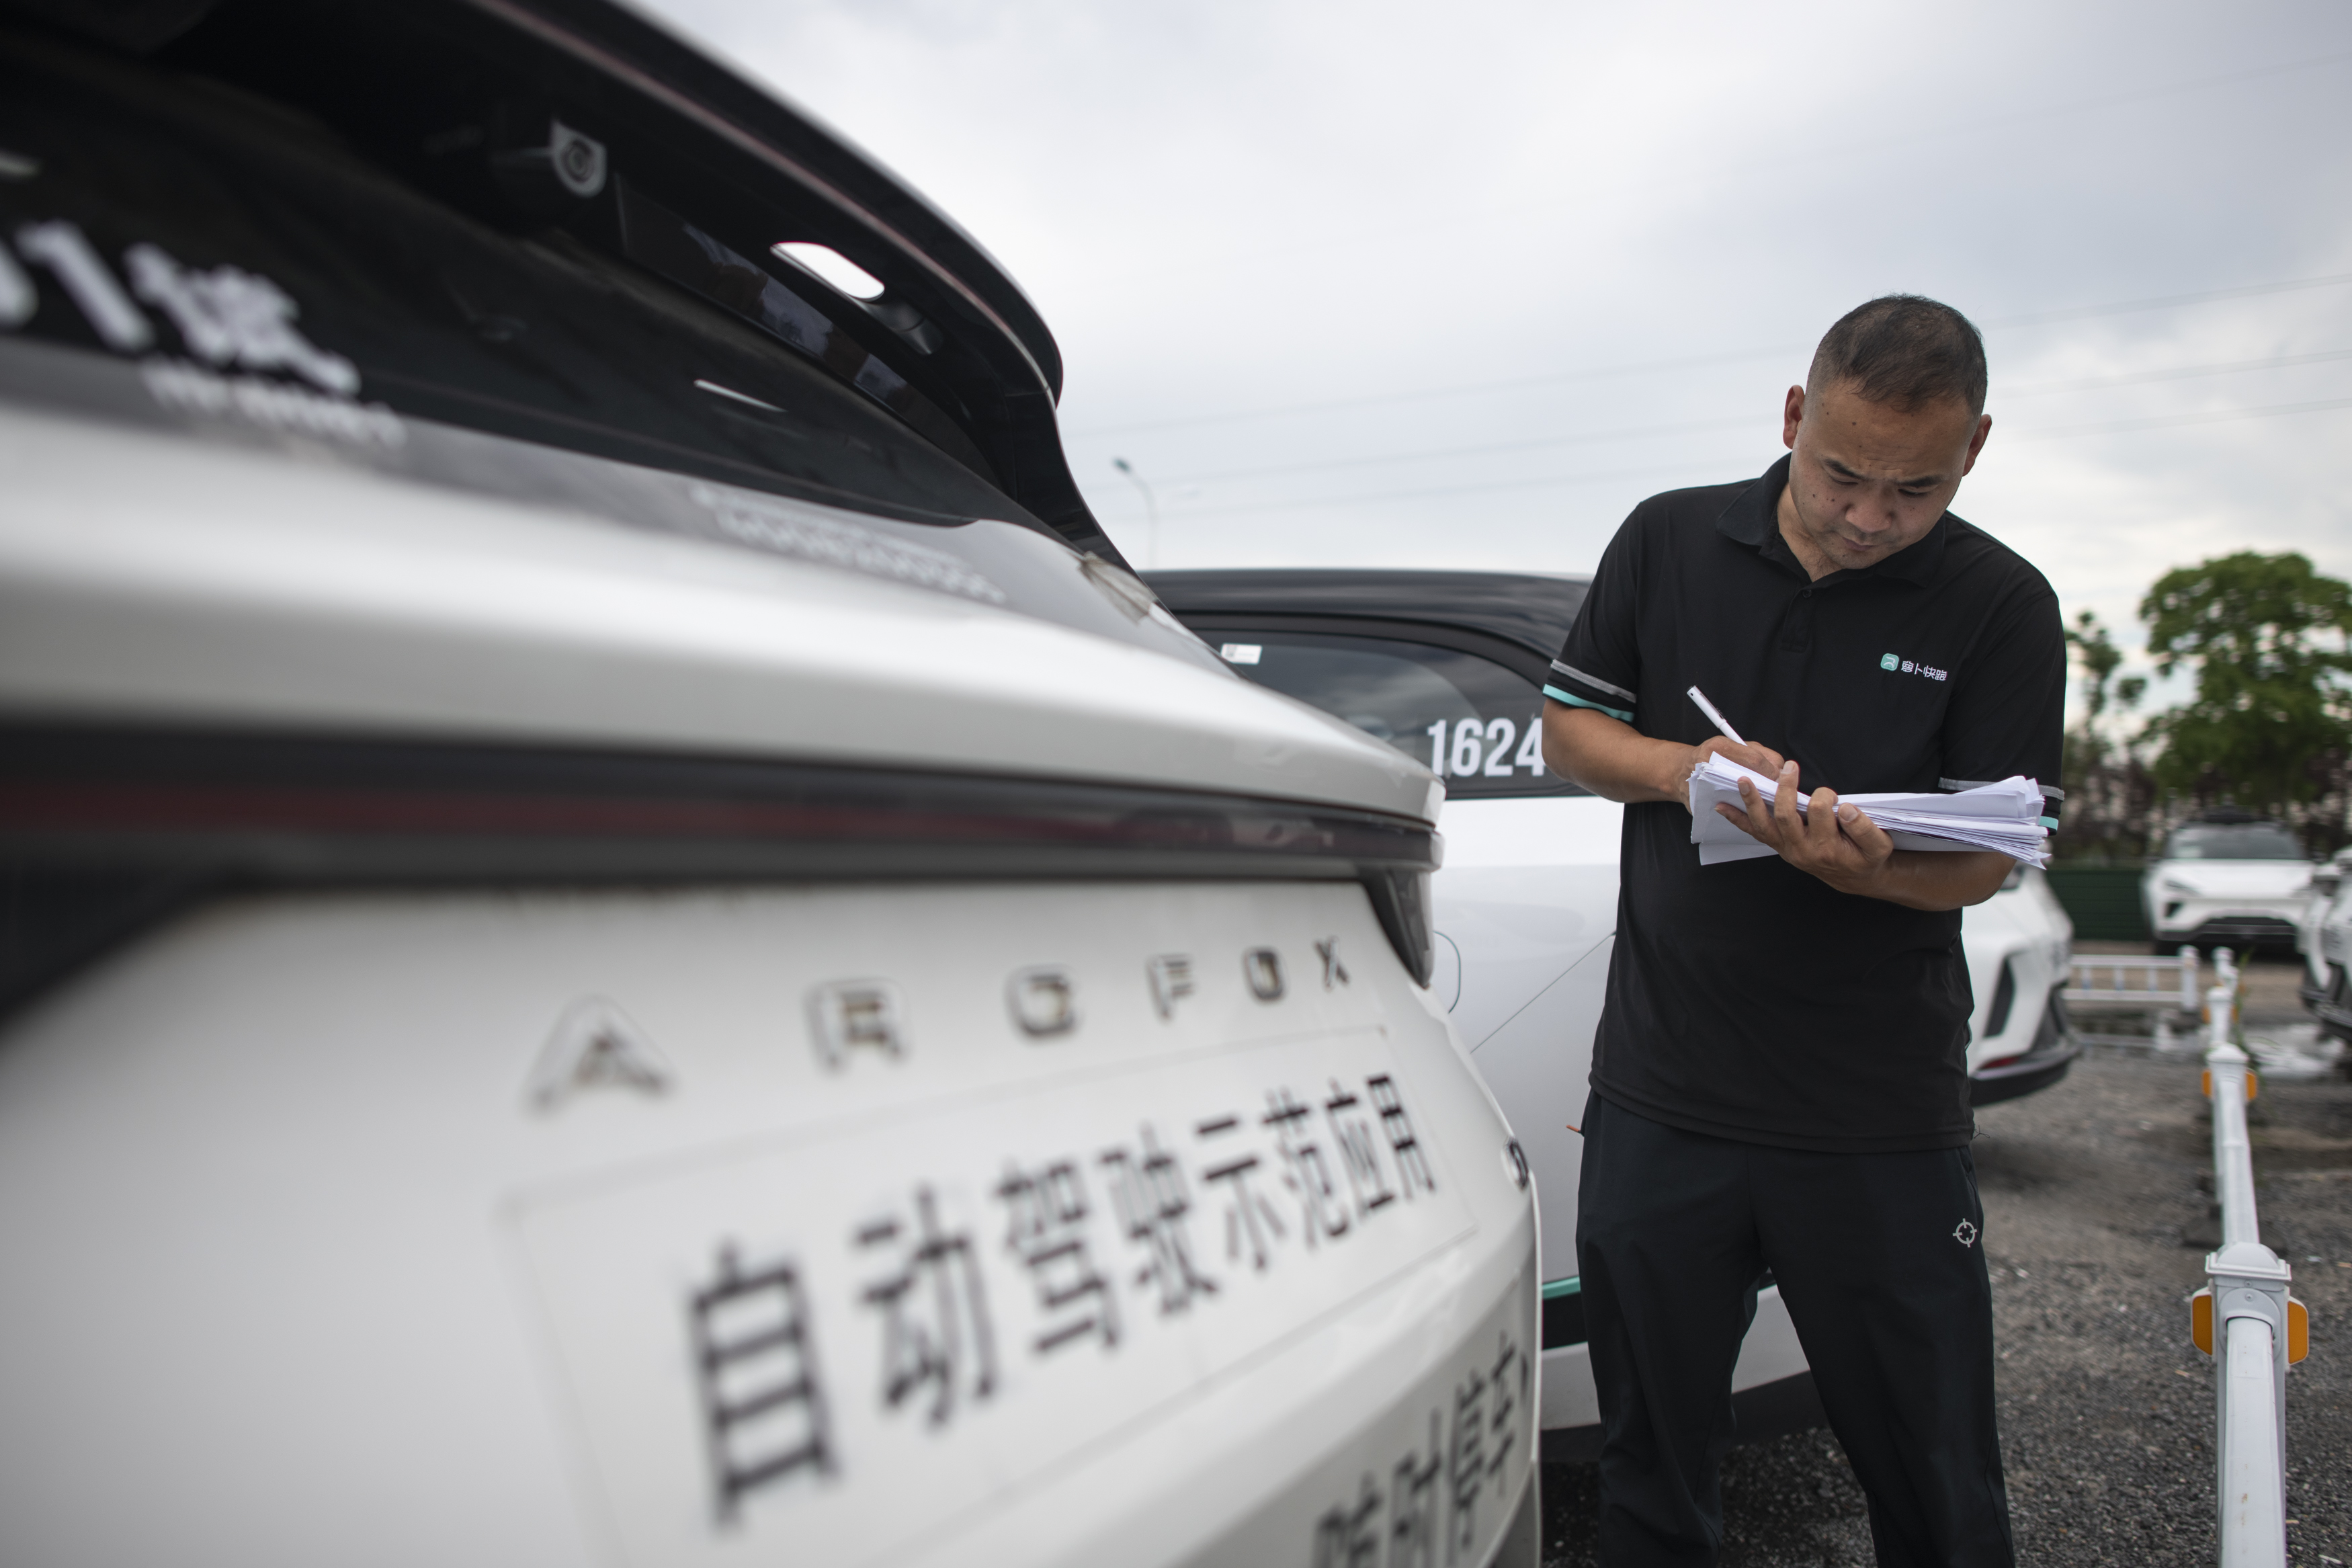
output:
M 80 14 L 0 1561 L 1534 1568 L 1439 785 L 1117 567 L 985 254 L 630 9 Z

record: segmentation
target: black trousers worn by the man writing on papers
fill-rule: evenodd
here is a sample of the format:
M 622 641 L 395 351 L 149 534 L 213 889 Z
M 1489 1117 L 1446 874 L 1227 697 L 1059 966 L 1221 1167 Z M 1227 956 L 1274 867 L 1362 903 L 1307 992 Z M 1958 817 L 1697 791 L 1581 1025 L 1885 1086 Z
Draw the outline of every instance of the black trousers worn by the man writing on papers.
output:
M 1870 1500 L 1882 1568 L 2009 1568 L 1969 1150 L 1776 1150 L 1597 1093 L 1583 1131 L 1576 1262 L 1602 1401 L 1602 1563 L 1715 1563 L 1731 1366 L 1771 1269 Z

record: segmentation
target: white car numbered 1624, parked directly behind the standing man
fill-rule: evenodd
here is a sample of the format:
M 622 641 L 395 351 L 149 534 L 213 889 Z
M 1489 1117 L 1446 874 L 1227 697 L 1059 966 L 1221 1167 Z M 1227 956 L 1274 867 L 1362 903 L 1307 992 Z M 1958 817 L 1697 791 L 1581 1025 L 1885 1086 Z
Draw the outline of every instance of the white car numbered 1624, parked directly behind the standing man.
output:
M 1501 571 L 1150 574 L 1242 675 L 1343 717 L 1446 776 L 1432 992 L 1526 1147 L 1543 1194 L 1545 1453 L 1590 1458 L 1599 1406 L 1576 1276 L 1592 1032 L 1618 905 L 1621 806 L 1550 776 L 1543 682 L 1585 578 Z M 1969 1070 L 1987 1105 L 2065 1077 L 2058 990 L 2072 924 L 2042 872 L 1962 922 L 1976 987 Z M 1778 1288 L 1762 1281 L 1733 1371 L 1743 1439 L 1823 1425 Z

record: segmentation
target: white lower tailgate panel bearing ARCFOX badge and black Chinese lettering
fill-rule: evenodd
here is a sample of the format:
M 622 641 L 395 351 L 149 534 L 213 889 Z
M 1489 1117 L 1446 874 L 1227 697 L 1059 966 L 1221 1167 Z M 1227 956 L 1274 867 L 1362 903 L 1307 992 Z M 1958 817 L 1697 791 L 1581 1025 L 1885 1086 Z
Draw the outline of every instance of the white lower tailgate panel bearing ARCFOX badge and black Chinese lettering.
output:
M 1143 983 L 1145 947 L 1305 954 L 1317 936 L 1359 957 L 1350 983 L 1301 966 L 1265 1004 L 1237 961 L 1204 961 L 1174 1018 Z M 266 1561 L 353 1561 L 367 1516 L 369 1561 L 731 1563 L 762 1542 L 844 1563 L 1305 1561 L 1357 1472 L 1418 1453 L 1456 1385 L 1536 1333 L 1505 1131 L 1416 987 L 1371 961 L 1383 945 L 1352 886 L 216 905 L 0 1053 L 9 1559 L 143 1561 L 169 1537 L 174 1561 L 261 1561 L 268 1519 Z M 1037 1044 L 1004 1013 L 1004 976 L 1040 957 L 1080 976 L 1077 1037 Z M 908 1044 L 828 1067 L 807 992 L 877 969 Z M 661 1091 L 529 1100 L 583 997 L 630 1020 Z M 1435 1190 L 1319 1248 L 1294 1232 L 1256 1272 L 1202 1187 L 1195 1262 L 1218 1295 L 1164 1316 L 1124 1295 L 1115 1345 L 1030 1352 L 1054 1316 L 1004 1288 L 1025 1281 L 988 1225 L 1014 1161 L 1091 1159 L 1145 1119 L 1190 1154 L 1192 1117 L 1247 1117 L 1277 1081 L 1319 1098 L 1374 1063 Z M 997 1356 L 995 1389 L 964 1385 L 936 1427 L 873 1392 L 887 1349 L 858 1288 L 877 1269 L 849 1237 L 917 1182 L 988 1253 Z M 687 1302 L 722 1246 L 802 1267 L 837 1467 L 713 1530 Z M 1141 1255 L 1096 1246 L 1105 1274 Z M 1531 1380 L 1491 1413 L 1489 1547 L 1526 1483 Z M 125 1469 L 151 1479 L 139 1509 L 108 1502 Z M 381 1507 L 388 1476 L 419 1507 Z

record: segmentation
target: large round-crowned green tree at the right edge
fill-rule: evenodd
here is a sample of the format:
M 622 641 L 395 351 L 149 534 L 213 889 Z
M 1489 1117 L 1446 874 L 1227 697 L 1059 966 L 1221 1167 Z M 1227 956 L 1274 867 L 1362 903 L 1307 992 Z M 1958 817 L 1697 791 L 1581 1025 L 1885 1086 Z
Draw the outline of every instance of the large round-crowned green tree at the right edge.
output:
M 2197 665 L 2197 696 L 2147 726 L 2159 783 L 2270 811 L 2343 790 L 2352 585 L 2303 555 L 2239 550 L 2166 571 L 2140 621 L 2159 675 Z

